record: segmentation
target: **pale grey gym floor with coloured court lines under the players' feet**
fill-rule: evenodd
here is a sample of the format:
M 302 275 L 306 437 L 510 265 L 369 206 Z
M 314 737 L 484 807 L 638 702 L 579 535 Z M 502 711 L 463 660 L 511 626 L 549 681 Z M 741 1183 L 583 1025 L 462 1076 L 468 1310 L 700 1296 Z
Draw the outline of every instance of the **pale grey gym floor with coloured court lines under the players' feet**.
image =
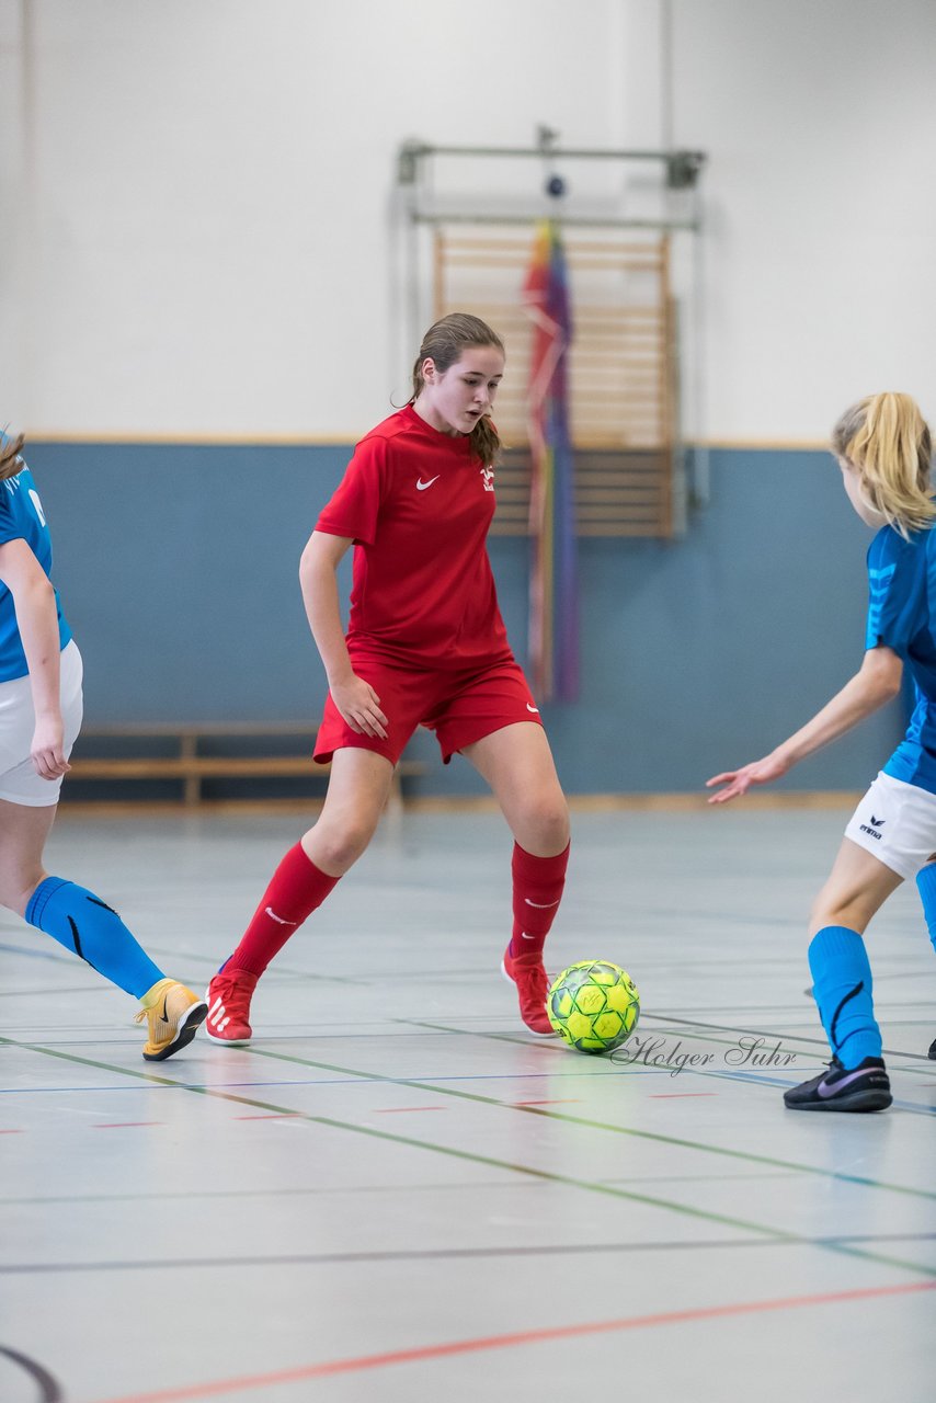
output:
M 828 1059 L 804 923 L 846 817 L 573 815 L 547 965 L 637 982 L 610 1058 L 518 1020 L 497 814 L 389 818 L 261 982 L 248 1048 L 143 1062 L 132 1000 L 0 916 L 0 1397 L 930 1403 L 912 888 L 869 934 L 894 1106 L 782 1101 Z M 48 861 L 201 991 L 302 828 L 65 812 Z

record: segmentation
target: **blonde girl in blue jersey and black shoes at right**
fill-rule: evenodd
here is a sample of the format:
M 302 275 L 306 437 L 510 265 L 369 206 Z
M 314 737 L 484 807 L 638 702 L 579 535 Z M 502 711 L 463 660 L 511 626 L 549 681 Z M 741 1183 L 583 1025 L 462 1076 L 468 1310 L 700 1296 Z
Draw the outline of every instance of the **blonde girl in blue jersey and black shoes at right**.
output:
M 832 1048 L 821 1076 L 786 1092 L 801 1111 L 880 1111 L 891 1104 L 874 1019 L 864 930 L 892 891 L 916 878 L 936 908 L 936 502 L 930 495 L 930 434 L 907 394 L 874 394 L 852 405 L 832 432 L 852 506 L 877 535 L 867 554 L 870 606 L 859 672 L 811 721 L 761 760 L 709 780 L 711 804 L 779 779 L 838 739 L 901 689 L 904 666 L 916 706 L 907 735 L 845 829 L 832 873 L 811 915 L 813 993 Z M 936 916 L 930 920 L 936 944 Z M 930 1048 L 936 1056 L 936 1044 Z

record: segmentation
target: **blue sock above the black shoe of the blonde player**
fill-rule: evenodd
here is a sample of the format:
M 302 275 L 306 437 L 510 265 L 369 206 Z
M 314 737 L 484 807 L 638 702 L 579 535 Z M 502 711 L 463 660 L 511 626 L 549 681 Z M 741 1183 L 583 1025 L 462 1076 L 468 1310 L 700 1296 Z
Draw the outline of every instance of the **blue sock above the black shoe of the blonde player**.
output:
M 857 932 L 848 926 L 818 930 L 810 944 L 810 971 L 822 1027 L 839 1062 L 852 1070 L 866 1056 L 880 1056 L 871 967 Z

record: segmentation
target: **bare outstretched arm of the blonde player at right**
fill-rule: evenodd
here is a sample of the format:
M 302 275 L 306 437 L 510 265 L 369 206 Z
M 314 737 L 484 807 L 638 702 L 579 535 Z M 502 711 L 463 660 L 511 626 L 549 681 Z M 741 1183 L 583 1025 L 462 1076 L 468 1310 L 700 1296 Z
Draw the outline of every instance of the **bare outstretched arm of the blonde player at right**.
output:
M 864 721 L 885 702 L 897 696 L 902 673 L 904 664 L 892 648 L 887 648 L 884 644 L 869 648 L 862 666 L 842 690 L 836 692 L 811 721 L 807 721 L 794 735 L 777 745 L 776 751 L 740 770 L 724 770 L 707 780 L 706 788 L 724 786 L 711 796 L 709 803 L 727 804 L 728 800 L 740 798 L 747 794 L 752 784 L 768 784 L 770 780 L 780 779 L 807 755 L 838 741 L 859 721 Z

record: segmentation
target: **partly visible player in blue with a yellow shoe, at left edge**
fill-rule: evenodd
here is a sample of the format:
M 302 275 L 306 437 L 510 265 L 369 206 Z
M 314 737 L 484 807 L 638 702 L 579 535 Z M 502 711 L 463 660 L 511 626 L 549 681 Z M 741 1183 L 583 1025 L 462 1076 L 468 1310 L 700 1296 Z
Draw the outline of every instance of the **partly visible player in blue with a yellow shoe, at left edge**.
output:
M 0 434 L 0 904 L 139 999 L 143 1056 L 160 1062 L 191 1042 L 208 1005 L 164 976 L 107 902 L 42 866 L 81 725 L 81 655 L 21 448 Z

